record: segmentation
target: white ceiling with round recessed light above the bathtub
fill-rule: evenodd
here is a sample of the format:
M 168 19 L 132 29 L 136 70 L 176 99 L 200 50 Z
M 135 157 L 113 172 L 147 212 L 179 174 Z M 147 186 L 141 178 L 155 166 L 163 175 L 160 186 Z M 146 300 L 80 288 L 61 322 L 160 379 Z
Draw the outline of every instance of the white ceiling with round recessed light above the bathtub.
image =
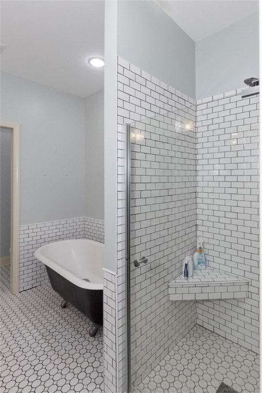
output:
M 1 70 L 87 97 L 104 85 L 104 1 L 1 1 Z

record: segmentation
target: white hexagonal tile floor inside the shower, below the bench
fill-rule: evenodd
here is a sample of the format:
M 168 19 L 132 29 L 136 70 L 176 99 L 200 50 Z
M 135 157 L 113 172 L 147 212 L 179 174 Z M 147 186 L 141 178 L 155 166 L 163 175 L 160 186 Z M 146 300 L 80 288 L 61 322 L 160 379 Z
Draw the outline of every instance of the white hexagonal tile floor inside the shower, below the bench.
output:
M 259 393 L 259 356 L 195 325 L 138 385 L 143 393 L 215 393 L 221 382 Z

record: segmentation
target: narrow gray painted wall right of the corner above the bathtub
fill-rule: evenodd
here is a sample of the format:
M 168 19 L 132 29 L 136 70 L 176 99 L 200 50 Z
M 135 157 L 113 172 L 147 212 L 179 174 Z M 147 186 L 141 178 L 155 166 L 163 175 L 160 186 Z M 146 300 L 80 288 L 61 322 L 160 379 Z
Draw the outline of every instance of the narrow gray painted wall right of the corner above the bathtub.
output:
M 85 99 L 85 216 L 104 220 L 104 91 Z

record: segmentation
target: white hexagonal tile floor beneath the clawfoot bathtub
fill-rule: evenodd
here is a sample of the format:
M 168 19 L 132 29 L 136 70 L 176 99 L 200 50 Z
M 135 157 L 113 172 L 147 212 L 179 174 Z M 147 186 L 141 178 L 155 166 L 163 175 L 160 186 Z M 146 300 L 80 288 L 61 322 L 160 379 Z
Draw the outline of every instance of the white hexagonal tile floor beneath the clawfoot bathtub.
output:
M 1 275 L 2 393 L 103 391 L 103 336 L 49 283 L 12 295 L 10 268 Z

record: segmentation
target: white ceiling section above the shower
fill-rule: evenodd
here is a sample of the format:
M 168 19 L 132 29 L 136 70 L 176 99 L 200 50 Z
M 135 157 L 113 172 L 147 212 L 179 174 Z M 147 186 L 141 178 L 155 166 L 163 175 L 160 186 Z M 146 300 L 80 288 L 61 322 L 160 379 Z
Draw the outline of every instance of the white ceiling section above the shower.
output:
M 258 12 L 259 0 L 156 0 L 195 42 Z

